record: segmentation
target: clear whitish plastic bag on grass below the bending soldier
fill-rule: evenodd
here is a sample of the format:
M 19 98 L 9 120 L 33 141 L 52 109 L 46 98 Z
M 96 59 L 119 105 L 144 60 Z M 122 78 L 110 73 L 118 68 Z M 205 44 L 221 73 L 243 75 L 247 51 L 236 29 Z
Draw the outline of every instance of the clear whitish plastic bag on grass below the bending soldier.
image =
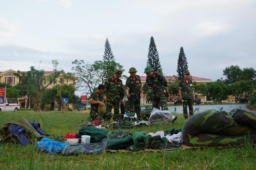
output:
M 148 121 L 151 124 L 169 123 L 175 118 L 169 111 L 160 111 L 156 107 L 153 108 Z

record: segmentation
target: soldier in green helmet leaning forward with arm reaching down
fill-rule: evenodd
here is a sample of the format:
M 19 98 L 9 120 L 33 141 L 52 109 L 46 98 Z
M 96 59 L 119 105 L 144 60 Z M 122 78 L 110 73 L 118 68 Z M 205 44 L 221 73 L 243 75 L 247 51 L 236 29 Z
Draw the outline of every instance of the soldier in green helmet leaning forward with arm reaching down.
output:
M 143 97 L 143 93 L 149 89 L 152 92 L 152 107 L 156 107 L 160 110 L 161 106 L 162 110 L 168 110 L 165 93 L 166 96 L 169 96 L 169 91 L 164 76 L 154 72 L 151 67 L 146 67 L 144 73 L 147 74 L 147 78 L 143 86 L 141 97 Z

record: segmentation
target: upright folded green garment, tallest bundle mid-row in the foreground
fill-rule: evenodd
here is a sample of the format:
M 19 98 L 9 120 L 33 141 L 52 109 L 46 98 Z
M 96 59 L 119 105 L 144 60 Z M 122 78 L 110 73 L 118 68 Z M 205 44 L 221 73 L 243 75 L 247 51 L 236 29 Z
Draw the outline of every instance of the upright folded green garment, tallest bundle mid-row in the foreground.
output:
M 133 144 L 126 149 L 131 151 L 138 151 L 147 149 L 149 146 L 148 138 L 143 132 L 135 131 L 132 133 Z

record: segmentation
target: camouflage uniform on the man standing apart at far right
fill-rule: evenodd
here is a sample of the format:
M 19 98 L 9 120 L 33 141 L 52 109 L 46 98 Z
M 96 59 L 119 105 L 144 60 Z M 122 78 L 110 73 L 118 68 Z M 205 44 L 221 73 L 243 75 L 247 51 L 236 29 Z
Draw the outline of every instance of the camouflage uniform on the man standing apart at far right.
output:
M 183 116 L 185 119 L 187 119 L 187 105 L 188 105 L 188 109 L 189 109 L 189 116 L 193 116 L 194 112 L 193 112 L 193 93 L 192 91 L 194 91 L 194 86 L 193 86 L 193 82 L 191 80 L 188 80 L 188 82 L 186 82 L 185 78 L 183 80 L 180 81 L 179 83 L 179 89 L 181 90 L 181 94 L 182 94 L 182 100 L 184 100 L 183 102 Z

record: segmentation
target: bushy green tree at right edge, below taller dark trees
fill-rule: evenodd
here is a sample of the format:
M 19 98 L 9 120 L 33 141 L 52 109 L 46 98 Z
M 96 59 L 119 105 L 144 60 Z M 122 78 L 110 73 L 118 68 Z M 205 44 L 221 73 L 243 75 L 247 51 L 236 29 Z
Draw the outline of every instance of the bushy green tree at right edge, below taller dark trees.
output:
M 228 86 L 230 95 L 235 96 L 235 102 L 238 102 L 243 93 L 252 94 L 254 90 L 253 80 L 240 80 Z

